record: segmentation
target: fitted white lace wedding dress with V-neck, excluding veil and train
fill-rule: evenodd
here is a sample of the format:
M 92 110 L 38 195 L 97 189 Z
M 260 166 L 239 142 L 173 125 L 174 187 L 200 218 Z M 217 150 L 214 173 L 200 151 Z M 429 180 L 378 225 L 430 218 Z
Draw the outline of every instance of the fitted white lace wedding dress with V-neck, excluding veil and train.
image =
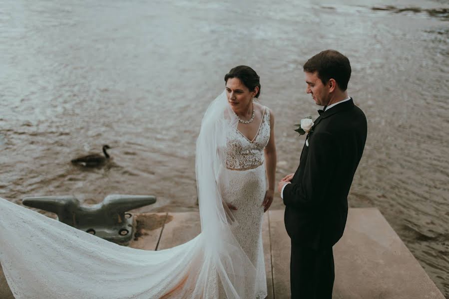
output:
M 265 260 L 262 246 L 262 202 L 265 197 L 264 149 L 270 139 L 270 110 L 264 107 L 262 121 L 256 137 L 250 141 L 237 129 L 229 132 L 227 138 L 226 172 L 229 182 L 222 187 L 223 198 L 235 206 L 232 211 L 238 226 L 231 230 L 239 244 L 256 267 L 256 298 L 267 296 Z M 251 298 L 252 282 L 245 283 Z M 222 297 L 220 297 L 222 298 Z M 225 298 L 225 297 L 223 297 Z

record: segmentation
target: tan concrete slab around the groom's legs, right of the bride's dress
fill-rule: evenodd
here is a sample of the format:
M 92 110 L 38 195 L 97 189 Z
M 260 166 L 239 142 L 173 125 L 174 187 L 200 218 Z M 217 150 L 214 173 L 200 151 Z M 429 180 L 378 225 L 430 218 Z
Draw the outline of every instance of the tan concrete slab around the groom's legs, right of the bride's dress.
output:
M 284 211 L 270 211 L 274 298 L 290 298 L 290 239 Z M 377 208 L 349 209 L 334 246 L 334 299 L 444 299 Z

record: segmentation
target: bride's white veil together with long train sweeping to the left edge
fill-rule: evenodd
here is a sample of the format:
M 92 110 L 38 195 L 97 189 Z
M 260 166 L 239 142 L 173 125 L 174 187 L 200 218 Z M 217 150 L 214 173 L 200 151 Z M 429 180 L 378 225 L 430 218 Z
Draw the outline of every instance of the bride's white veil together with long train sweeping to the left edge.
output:
M 243 281 L 256 282 L 256 269 L 221 196 L 226 136 L 237 124 L 223 92 L 207 109 L 196 144 L 201 233 L 180 246 L 119 246 L 0 198 L 0 262 L 14 297 L 243 299 Z

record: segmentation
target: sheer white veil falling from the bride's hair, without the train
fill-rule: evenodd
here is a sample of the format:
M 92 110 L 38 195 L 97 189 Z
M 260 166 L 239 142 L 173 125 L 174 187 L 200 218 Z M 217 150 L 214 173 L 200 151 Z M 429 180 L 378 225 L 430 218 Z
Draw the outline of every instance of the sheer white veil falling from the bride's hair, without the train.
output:
M 221 186 L 229 182 L 224 171 L 228 152 L 226 136 L 228 130 L 235 130 L 237 125 L 237 117 L 229 107 L 224 91 L 207 109 L 196 143 L 201 235 L 228 298 L 243 298 L 245 290 L 241 283 L 244 277 L 256 280 L 256 268 L 231 231 L 231 227 L 238 223 L 226 205 L 226 198 L 221 196 Z

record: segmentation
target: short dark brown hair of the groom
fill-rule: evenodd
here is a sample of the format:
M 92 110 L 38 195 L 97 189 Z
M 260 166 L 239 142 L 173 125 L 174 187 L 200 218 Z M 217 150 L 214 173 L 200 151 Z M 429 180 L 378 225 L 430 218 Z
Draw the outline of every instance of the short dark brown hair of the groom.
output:
M 336 50 L 325 50 L 307 60 L 304 71 L 317 72 L 318 78 L 325 85 L 330 79 L 334 79 L 340 89 L 345 91 L 351 77 L 351 64 L 348 57 L 342 53 Z

